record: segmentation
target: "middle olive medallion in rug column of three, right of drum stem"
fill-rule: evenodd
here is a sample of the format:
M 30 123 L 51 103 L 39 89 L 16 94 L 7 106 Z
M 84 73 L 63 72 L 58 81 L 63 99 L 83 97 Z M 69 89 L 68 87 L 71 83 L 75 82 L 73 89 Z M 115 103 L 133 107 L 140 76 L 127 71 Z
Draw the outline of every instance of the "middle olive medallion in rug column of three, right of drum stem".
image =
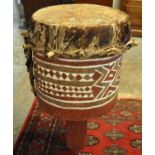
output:
M 104 135 L 112 141 L 116 141 L 124 137 L 124 134 L 122 132 L 115 129 L 105 132 Z

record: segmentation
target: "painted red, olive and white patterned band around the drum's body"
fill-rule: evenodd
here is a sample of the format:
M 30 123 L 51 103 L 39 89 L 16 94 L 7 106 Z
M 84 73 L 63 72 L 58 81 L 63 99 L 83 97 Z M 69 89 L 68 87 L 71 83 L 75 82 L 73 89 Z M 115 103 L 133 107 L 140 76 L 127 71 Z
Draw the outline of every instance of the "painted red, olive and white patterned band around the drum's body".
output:
M 121 58 L 49 60 L 34 53 L 37 96 L 65 109 L 75 109 L 74 104 L 76 109 L 104 106 L 117 96 Z

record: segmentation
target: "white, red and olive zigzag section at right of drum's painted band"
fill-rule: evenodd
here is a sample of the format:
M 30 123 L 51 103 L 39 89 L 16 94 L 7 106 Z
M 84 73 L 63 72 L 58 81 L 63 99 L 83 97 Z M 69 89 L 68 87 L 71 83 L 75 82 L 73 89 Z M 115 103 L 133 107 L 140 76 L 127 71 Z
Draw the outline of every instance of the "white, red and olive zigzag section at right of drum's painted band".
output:
M 108 97 L 117 90 L 119 84 L 120 60 L 113 62 L 111 65 L 95 69 L 97 81 L 94 84 L 95 99 Z

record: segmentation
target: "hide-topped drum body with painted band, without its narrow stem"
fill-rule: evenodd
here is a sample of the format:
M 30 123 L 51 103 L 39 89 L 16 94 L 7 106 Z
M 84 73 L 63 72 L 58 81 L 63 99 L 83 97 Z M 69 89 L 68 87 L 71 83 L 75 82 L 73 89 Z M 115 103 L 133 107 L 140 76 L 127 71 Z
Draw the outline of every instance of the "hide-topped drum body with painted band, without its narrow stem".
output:
M 90 4 L 43 8 L 24 34 L 32 89 L 67 120 L 101 116 L 115 104 L 123 53 L 135 43 L 127 14 Z

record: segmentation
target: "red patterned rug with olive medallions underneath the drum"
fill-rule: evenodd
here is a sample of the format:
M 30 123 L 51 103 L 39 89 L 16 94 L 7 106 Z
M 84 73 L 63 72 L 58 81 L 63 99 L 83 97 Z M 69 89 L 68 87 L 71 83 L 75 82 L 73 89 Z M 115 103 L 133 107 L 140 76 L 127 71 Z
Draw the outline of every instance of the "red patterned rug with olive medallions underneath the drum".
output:
M 87 125 L 87 146 L 80 155 L 141 155 L 142 101 L 120 99 Z M 73 155 L 65 145 L 65 122 L 44 113 L 36 100 L 14 146 L 14 155 Z

